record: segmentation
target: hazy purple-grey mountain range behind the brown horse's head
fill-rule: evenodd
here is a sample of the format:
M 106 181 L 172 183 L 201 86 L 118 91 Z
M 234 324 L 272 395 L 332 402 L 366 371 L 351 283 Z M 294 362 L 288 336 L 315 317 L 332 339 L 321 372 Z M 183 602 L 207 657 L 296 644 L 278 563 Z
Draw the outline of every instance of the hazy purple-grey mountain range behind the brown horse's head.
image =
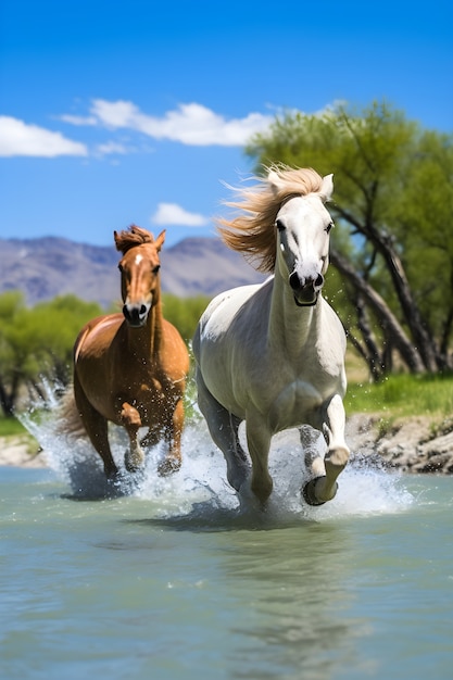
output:
M 73 293 L 105 307 L 121 298 L 119 257 L 114 245 L 54 237 L 0 239 L 0 292 L 22 290 L 30 305 Z M 214 297 L 264 278 L 214 238 L 187 238 L 164 247 L 161 263 L 162 290 L 180 298 Z

